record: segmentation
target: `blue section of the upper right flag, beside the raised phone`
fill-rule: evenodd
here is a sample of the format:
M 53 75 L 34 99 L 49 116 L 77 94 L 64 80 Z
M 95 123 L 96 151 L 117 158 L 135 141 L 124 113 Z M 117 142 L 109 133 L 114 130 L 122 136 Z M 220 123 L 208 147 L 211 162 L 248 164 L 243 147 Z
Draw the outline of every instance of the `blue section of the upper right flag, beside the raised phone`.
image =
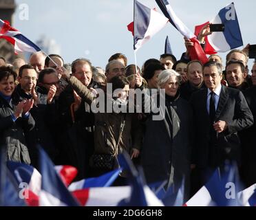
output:
M 232 11 L 233 10 L 233 11 Z M 228 14 L 226 14 L 228 12 Z M 235 19 L 233 17 L 228 17 L 231 15 L 229 13 L 235 14 Z M 226 42 L 230 45 L 231 50 L 237 47 L 242 46 L 242 34 L 239 28 L 239 23 L 237 19 L 237 13 L 235 12 L 235 5 L 232 3 L 232 8 L 222 8 L 219 12 L 219 17 L 222 20 L 222 23 L 225 25 L 225 30 L 223 32 Z

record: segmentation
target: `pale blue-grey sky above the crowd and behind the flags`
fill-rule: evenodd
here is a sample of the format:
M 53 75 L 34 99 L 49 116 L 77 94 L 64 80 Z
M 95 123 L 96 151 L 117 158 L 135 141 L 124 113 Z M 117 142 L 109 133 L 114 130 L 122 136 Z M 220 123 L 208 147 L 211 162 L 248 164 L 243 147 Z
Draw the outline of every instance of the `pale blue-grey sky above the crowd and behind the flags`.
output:
M 162 13 L 154 0 L 139 0 Z M 213 19 L 231 0 L 169 0 L 173 10 L 193 31 L 195 25 Z M 233 0 L 242 32 L 244 46 L 256 44 L 255 0 Z M 13 27 L 31 41 L 42 35 L 54 39 L 61 47 L 65 63 L 76 58 L 88 58 L 94 66 L 105 68 L 108 58 L 117 52 L 125 54 L 128 64 L 134 63 L 133 36 L 127 25 L 134 19 L 133 0 L 16 0 Z M 24 17 L 24 5 L 28 17 Z M 25 18 L 25 19 L 24 19 Z M 253 24 L 253 25 L 252 25 Z M 173 54 L 179 59 L 185 51 L 183 36 L 168 23 L 165 28 L 137 52 L 141 66 L 148 58 L 164 53 L 164 41 L 169 36 Z M 239 47 L 238 49 L 242 49 Z M 220 53 L 225 61 L 226 53 Z M 253 61 L 249 61 L 252 67 Z

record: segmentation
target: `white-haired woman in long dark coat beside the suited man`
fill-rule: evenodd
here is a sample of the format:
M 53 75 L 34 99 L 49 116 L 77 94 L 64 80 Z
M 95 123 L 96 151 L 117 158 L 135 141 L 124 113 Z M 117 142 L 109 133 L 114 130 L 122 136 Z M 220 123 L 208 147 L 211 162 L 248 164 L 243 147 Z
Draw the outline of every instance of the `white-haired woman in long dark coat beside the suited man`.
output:
M 165 102 L 162 107 L 160 104 L 164 118 L 153 120 L 153 113 L 149 116 L 141 155 L 147 183 L 167 180 L 166 188 L 173 184 L 174 190 L 178 190 L 184 177 L 185 194 L 188 195 L 192 111 L 189 102 L 180 98 L 180 82 L 180 74 L 172 69 L 158 76 L 158 87 L 165 89 L 164 94 L 158 94 L 158 100 L 163 98 Z

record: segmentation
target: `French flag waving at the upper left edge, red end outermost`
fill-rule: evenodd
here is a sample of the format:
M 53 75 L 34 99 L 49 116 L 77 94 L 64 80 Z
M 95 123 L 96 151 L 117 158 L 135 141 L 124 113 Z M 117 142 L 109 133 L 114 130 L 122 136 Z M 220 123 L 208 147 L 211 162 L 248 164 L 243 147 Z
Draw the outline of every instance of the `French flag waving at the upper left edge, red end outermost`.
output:
M 39 52 L 41 49 L 27 39 L 21 32 L 12 28 L 8 21 L 0 19 L 0 39 L 6 39 L 14 45 L 15 54 L 20 52 Z

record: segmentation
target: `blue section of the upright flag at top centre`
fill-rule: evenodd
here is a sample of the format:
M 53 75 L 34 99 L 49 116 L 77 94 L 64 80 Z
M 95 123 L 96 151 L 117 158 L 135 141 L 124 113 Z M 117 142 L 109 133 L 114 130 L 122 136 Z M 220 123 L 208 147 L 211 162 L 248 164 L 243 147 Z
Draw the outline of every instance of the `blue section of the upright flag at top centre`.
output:
M 140 39 L 144 39 L 150 21 L 150 8 L 147 8 L 138 1 L 134 2 L 134 50 L 136 43 Z

